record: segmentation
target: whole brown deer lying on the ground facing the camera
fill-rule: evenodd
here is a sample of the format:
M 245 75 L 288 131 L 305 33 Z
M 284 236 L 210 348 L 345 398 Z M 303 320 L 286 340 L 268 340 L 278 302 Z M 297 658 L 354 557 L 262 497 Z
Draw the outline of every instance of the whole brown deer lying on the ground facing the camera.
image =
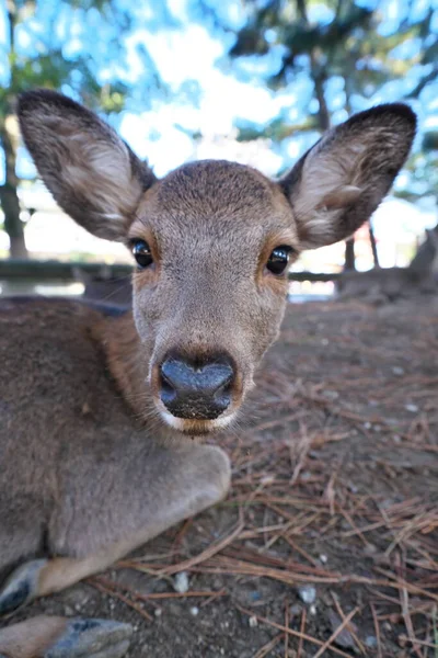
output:
M 159 180 L 96 114 L 46 89 L 20 95 L 18 117 L 59 206 L 123 241 L 136 271 L 124 314 L 0 303 L 0 656 L 117 658 L 127 624 L 11 615 L 227 496 L 220 436 L 278 336 L 288 268 L 369 218 L 416 117 L 401 103 L 360 112 L 279 180 L 224 160 Z

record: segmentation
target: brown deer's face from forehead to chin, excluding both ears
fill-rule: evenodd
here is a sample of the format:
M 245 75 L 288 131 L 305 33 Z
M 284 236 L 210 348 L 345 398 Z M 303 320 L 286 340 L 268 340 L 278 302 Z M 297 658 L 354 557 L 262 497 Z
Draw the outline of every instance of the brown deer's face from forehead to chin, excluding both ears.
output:
M 186 164 L 139 204 L 134 317 L 154 401 L 172 427 L 223 427 L 277 336 L 288 261 L 298 250 L 280 190 L 223 161 Z

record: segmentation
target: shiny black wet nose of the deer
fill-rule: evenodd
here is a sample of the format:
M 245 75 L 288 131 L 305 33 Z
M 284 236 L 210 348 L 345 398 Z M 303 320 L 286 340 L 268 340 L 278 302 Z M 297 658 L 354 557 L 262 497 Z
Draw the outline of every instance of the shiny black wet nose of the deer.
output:
M 231 402 L 234 370 L 224 356 L 200 363 L 170 356 L 160 375 L 161 400 L 177 418 L 212 420 Z

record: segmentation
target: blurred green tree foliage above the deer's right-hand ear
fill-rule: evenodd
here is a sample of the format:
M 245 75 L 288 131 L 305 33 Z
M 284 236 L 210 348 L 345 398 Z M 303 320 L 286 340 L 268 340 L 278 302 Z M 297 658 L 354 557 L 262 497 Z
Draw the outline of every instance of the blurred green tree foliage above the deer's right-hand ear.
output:
M 418 11 L 414 2 L 400 2 L 389 21 L 385 4 L 244 0 L 244 24 L 235 31 L 230 57 L 277 92 L 303 91 L 267 125 L 240 122 L 240 139 L 270 137 L 281 149 L 281 141 L 293 138 L 304 151 L 332 122 L 376 102 L 423 101 L 438 79 L 438 9 Z M 374 247 L 371 228 L 370 240 Z M 346 247 L 346 266 L 354 266 L 353 242 Z

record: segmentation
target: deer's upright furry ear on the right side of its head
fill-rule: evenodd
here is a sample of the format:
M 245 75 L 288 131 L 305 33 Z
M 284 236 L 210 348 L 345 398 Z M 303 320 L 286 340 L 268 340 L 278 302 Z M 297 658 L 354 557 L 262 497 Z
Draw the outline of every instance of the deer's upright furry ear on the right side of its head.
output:
M 280 181 L 303 249 L 348 238 L 376 211 L 410 152 L 416 116 L 378 105 L 328 131 Z

